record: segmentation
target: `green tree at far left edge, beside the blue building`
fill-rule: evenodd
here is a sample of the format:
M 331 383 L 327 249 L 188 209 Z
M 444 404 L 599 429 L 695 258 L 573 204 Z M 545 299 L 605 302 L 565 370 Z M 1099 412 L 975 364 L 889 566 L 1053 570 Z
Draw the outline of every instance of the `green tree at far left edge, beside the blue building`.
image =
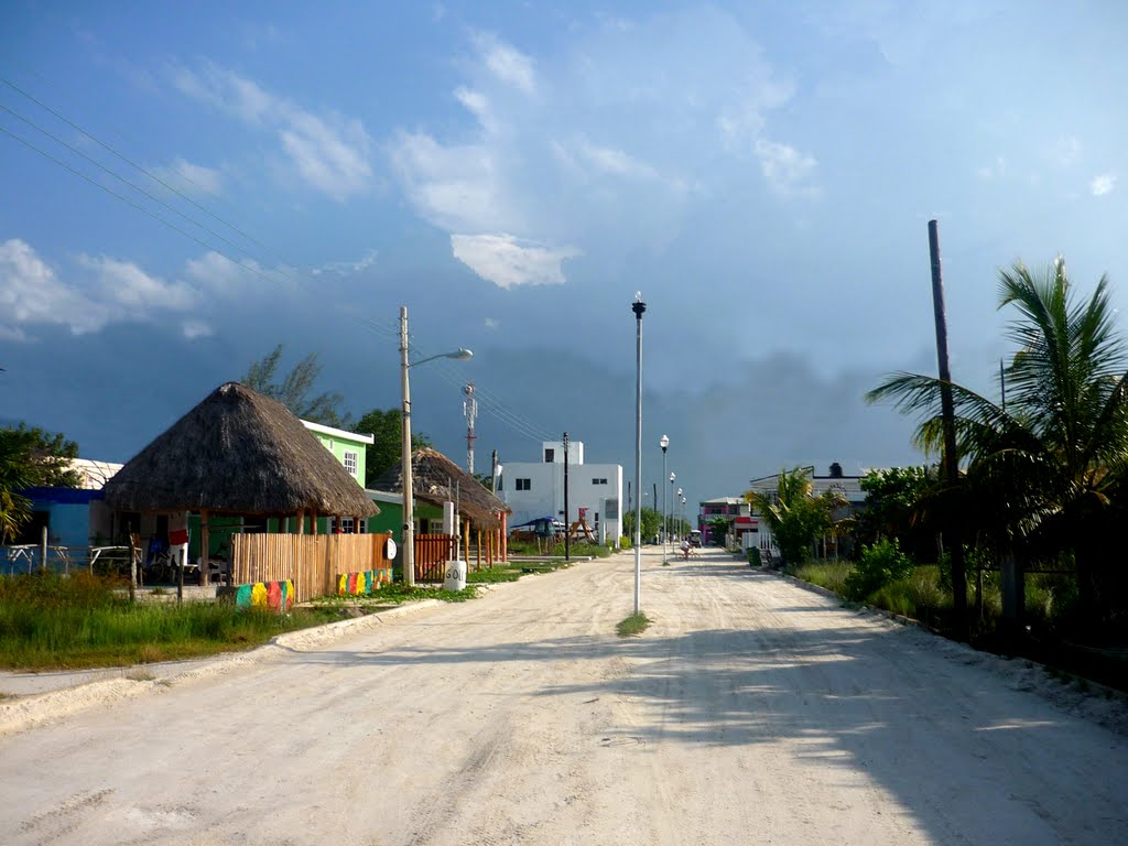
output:
M 0 429 L 0 543 L 16 537 L 32 517 L 32 503 L 21 490 L 79 486 L 72 458 L 78 458 L 78 444 L 62 434 L 24 423 Z

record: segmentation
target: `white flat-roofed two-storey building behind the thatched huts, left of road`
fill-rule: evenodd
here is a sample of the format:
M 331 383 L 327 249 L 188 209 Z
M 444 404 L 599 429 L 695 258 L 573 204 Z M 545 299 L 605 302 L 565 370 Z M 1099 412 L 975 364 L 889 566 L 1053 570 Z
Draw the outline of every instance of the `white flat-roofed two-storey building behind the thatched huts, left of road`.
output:
M 600 544 L 611 540 L 618 548 L 623 536 L 623 467 L 584 464 L 583 443 L 567 444 L 567 504 L 564 513 L 564 442 L 544 441 L 539 462 L 506 461 L 497 477 L 497 496 L 513 513 L 510 527 L 553 517 L 571 526 L 581 514 Z

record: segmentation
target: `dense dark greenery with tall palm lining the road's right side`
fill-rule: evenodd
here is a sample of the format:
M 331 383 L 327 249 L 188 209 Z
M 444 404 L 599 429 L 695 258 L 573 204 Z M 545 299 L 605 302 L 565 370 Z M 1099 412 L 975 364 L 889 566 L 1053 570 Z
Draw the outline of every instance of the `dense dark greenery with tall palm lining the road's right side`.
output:
M 865 509 L 851 517 L 812 495 L 805 470 L 783 470 L 773 495 L 746 494 L 783 553 L 766 563 L 1125 688 L 1128 567 L 1114 550 L 1128 518 L 1128 345 L 1109 283 L 1079 298 L 1058 258 L 1042 273 L 1001 271 L 998 294 L 1014 352 L 997 402 L 936 377 L 885 377 L 866 399 L 917 416 L 915 443 L 935 464 L 869 474 Z M 954 482 L 941 473 L 945 394 Z M 841 561 L 812 559 L 828 537 Z

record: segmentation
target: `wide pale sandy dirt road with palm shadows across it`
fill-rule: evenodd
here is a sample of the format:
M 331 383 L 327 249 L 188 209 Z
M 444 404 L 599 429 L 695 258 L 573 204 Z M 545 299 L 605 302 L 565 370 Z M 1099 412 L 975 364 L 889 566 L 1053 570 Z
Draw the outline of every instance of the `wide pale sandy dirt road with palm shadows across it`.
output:
M 0 738 L 5 844 L 1128 843 L 1128 742 L 722 553 L 579 564 Z M 1016 680 L 1017 679 L 1017 680 Z

